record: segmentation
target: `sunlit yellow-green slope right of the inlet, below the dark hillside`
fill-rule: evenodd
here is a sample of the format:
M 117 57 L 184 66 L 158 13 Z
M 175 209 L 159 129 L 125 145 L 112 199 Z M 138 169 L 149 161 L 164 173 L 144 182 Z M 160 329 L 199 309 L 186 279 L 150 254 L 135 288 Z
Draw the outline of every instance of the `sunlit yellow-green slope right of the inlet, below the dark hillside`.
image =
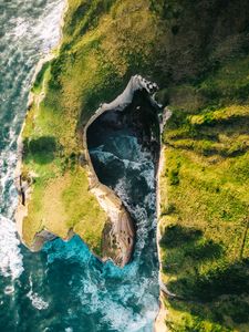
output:
M 163 279 L 178 295 L 165 299 L 172 331 L 249 329 L 249 105 L 231 93 L 248 76 L 241 63 L 226 61 L 194 83 L 204 101 L 197 107 L 195 98 L 188 107 L 186 93 L 177 105 L 176 91 L 186 87 L 168 92 L 174 114 L 163 135 L 160 248 Z M 222 82 L 231 68 L 232 80 Z M 207 97 L 209 82 L 222 86 L 216 98 Z

